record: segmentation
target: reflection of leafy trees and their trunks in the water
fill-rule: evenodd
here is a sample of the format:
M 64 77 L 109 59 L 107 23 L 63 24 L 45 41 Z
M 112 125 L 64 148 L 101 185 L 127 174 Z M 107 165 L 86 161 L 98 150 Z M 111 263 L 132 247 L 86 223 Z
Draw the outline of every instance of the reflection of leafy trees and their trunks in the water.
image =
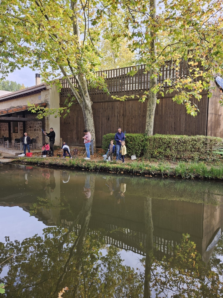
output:
M 107 186 L 113 194 L 112 183 Z M 124 188 L 122 192 L 125 193 Z M 65 298 L 222 297 L 222 238 L 208 264 L 202 261 L 196 244 L 187 234 L 176 247 L 168 248 L 169 255 L 161 256 L 153 243 L 152 199 L 147 196 L 146 242 L 142 247 L 146 256 L 141 259 L 145 270 L 135 270 L 123 264 L 119 248 L 105 243 L 109 233 L 106 228 L 89 228 L 94 193 L 95 175 L 89 174 L 80 212 L 72 213 L 68 206 L 73 218 L 68 228 L 47 227 L 41 237 L 34 236 L 22 243 L 7 238 L 5 244 L 0 243 L 0 273 L 8 267 L 8 274 L 0 283 L 7 284 L 7 297 L 54 298 L 64 287 L 69 288 L 63 294 Z M 62 203 L 58 206 L 65 208 Z M 53 203 L 40 200 L 32 211 L 39 208 L 53 208 Z M 120 236 L 124 230 L 118 232 Z

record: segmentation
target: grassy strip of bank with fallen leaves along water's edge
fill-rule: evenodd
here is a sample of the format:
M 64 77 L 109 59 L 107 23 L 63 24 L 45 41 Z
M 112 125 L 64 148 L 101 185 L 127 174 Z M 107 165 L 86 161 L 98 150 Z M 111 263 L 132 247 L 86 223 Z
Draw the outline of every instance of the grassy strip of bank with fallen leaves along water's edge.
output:
M 178 162 L 175 166 L 168 163 L 152 164 L 151 162 L 95 162 L 84 159 L 56 159 L 56 158 L 16 158 L 13 162 L 33 164 L 39 166 L 55 166 L 78 168 L 89 171 L 106 171 L 111 173 L 127 173 L 131 175 L 144 176 L 173 176 L 183 178 L 202 178 L 202 179 L 223 179 L 223 165 L 209 166 L 204 162 Z

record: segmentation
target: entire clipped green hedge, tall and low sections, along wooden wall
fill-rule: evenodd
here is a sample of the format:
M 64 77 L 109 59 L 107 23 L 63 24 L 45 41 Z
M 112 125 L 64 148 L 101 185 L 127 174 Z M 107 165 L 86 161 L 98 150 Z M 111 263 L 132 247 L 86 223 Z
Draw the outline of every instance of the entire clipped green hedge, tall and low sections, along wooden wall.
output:
M 115 142 L 115 133 L 102 137 L 102 148 L 107 151 L 111 140 Z M 179 136 L 144 134 L 126 134 L 127 155 L 137 157 L 207 157 L 212 155 L 216 147 L 223 146 L 223 139 L 213 136 Z

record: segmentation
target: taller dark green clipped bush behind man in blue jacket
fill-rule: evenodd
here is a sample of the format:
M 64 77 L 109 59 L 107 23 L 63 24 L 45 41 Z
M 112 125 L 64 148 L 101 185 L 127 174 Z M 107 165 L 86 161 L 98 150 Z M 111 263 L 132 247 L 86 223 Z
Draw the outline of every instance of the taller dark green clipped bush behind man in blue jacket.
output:
M 115 133 L 109 133 L 102 137 L 102 148 L 107 151 L 108 145 L 110 141 L 114 140 L 114 145 L 116 145 L 115 141 Z M 148 146 L 148 137 L 141 133 L 126 133 L 126 150 L 127 156 L 131 156 L 135 154 L 137 157 L 142 155 L 147 151 Z

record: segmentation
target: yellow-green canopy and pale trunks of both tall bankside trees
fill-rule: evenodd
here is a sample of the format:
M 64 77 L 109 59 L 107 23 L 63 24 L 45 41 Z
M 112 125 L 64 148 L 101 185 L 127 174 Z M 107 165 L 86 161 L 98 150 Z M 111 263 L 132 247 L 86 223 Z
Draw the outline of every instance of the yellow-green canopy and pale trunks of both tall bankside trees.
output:
M 148 135 L 153 133 L 156 103 L 158 97 L 165 95 L 165 86 L 168 86 L 168 94 L 174 94 L 176 103 L 184 104 L 186 112 L 196 116 L 196 100 L 201 100 L 204 90 L 212 88 L 210 81 L 216 75 L 223 74 L 223 4 L 219 0 L 158 3 L 156 0 L 3 0 L 2 8 L 2 77 L 24 65 L 40 69 L 46 81 L 62 73 L 74 95 L 69 106 L 76 101 L 81 105 L 85 127 L 94 139 L 88 89 L 107 90 L 104 78 L 96 73 L 100 67 L 101 39 L 102 45 L 108 41 L 111 46 L 106 55 L 116 56 L 115 53 L 122 50 L 120 40 L 126 40 L 129 49 L 126 55 L 134 52 L 138 62 L 146 64 L 150 89 L 140 100 L 148 99 Z M 122 63 L 120 56 L 113 61 L 120 59 Z M 161 67 L 167 67 L 166 61 L 172 71 L 157 83 L 158 75 L 162 75 Z M 101 63 L 103 65 L 103 58 Z M 180 68 L 180 64 L 184 64 L 184 68 Z M 137 68 L 131 74 L 136 71 Z M 75 78 L 74 84 L 70 76 Z M 59 85 L 58 80 L 56 83 Z

